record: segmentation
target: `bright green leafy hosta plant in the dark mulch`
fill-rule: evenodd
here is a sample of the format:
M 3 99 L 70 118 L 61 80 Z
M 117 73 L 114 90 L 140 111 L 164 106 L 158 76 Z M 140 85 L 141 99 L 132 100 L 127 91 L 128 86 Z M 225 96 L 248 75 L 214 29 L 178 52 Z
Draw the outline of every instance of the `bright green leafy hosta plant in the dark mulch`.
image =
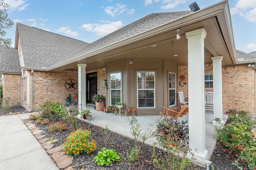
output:
M 106 149 L 105 147 L 98 152 L 98 155 L 93 158 L 95 163 L 98 165 L 106 165 L 108 166 L 112 161 L 119 162 L 120 157 L 116 154 L 114 149 Z

